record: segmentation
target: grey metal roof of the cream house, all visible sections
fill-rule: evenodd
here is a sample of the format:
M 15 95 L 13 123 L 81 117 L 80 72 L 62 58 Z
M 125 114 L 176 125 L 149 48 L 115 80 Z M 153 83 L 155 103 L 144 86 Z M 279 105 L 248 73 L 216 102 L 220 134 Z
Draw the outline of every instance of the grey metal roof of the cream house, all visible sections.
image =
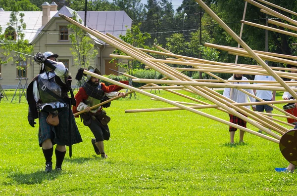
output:
M 73 9 L 63 6 L 59 11 L 50 11 L 50 20 L 59 17 L 59 13 L 68 17 L 72 17 Z M 21 11 L 24 13 L 24 23 L 26 23 L 25 39 L 31 43 L 45 26 L 42 26 L 42 11 Z M 0 26 L 2 33 L 8 27 L 11 11 L 0 11 Z M 77 11 L 78 16 L 82 19 L 84 24 L 85 12 Z M 131 28 L 132 20 L 125 11 L 88 11 L 87 12 L 87 26 L 100 31 L 101 33 L 109 33 L 116 37 L 125 35 L 127 28 Z M 125 26 L 128 26 L 127 28 Z M 102 42 L 96 37 L 90 35 L 96 43 Z

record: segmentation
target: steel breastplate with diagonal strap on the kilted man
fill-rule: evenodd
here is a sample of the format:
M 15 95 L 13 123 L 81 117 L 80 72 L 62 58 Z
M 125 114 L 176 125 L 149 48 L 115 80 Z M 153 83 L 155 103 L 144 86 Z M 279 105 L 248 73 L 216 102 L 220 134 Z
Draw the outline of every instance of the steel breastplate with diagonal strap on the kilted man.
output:
M 64 98 L 65 95 L 63 94 L 61 86 L 59 86 L 54 81 L 55 75 L 52 73 L 49 73 L 49 77 L 47 77 L 47 75 L 45 76 L 44 74 L 45 73 L 41 74 L 40 76 L 40 80 L 43 82 L 44 85 L 41 85 L 39 83 L 39 87 L 38 87 L 41 103 L 46 104 L 46 103 L 60 102 L 60 100 L 51 96 L 46 91 L 46 89 L 48 88 L 51 92 L 53 92 L 57 96 Z

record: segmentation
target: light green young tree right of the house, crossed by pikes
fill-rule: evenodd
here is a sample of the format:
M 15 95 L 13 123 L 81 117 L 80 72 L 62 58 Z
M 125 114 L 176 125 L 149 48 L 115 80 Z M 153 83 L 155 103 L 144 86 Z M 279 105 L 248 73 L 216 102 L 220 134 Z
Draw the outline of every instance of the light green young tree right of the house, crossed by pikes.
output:
M 137 25 L 132 25 L 131 29 L 127 29 L 126 35 L 120 35 L 119 37 L 120 39 L 122 39 L 126 43 L 133 45 L 134 47 L 149 49 L 149 47 L 145 45 L 145 42 L 147 39 L 150 38 L 150 35 L 148 33 L 142 33 L 139 28 L 140 25 L 141 23 Z M 119 49 L 114 50 L 113 54 L 126 55 L 124 52 L 120 51 Z M 114 59 L 112 59 L 112 61 L 113 60 Z M 127 69 L 130 75 L 133 75 L 133 69 L 145 68 L 143 64 L 141 64 L 136 60 L 127 60 L 127 63 L 118 63 L 117 66 Z

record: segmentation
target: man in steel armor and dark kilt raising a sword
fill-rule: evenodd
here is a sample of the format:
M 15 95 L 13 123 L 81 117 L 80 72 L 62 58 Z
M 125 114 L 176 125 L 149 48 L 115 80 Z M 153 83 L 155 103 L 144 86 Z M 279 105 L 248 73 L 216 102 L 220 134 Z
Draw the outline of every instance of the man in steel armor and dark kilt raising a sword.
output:
M 55 170 L 60 171 L 69 146 L 82 142 L 81 135 L 71 111 L 75 99 L 70 86 L 71 77 L 62 62 L 56 62 L 57 54 L 38 52 L 34 61 L 41 65 L 40 73 L 29 84 L 27 100 L 29 104 L 28 121 L 35 127 L 34 119 L 39 118 L 39 145 L 46 159 L 46 172 L 52 171 L 53 145 L 56 144 Z M 72 94 L 68 97 L 67 92 Z

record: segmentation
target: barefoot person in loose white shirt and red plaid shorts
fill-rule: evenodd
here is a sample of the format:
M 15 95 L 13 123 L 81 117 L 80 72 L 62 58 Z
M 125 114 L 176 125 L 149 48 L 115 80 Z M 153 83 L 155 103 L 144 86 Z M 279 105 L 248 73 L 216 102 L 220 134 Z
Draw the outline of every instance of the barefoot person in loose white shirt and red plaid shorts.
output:
M 234 78 L 231 77 L 229 78 L 228 80 L 231 80 L 231 79 L 236 79 L 236 80 L 248 80 L 246 77 L 243 77 L 242 74 L 235 74 L 234 75 Z M 234 84 L 249 84 L 249 82 L 233 82 Z M 253 94 L 253 91 L 251 89 L 244 89 L 246 90 L 247 92 Z M 224 89 L 224 92 L 223 92 L 223 96 L 229 98 L 229 99 L 232 99 L 233 101 L 237 102 L 237 103 L 247 103 L 248 102 L 248 97 L 250 99 L 251 102 L 255 102 L 255 98 L 251 97 L 251 96 L 247 96 L 246 93 L 236 89 L 236 88 L 233 88 L 231 90 L 231 88 L 225 88 Z M 249 106 L 245 106 L 247 108 L 250 108 Z M 252 106 L 252 109 L 255 110 L 255 106 Z M 231 114 L 229 114 L 229 117 L 230 117 L 230 122 L 232 123 L 235 123 L 235 124 L 238 124 L 240 126 L 243 126 L 243 127 L 247 127 L 247 122 L 241 118 L 238 118 L 236 116 L 233 116 Z M 232 127 L 230 126 L 229 127 L 229 132 L 230 132 L 230 144 L 234 144 L 234 136 L 235 136 L 235 131 L 237 131 L 237 128 L 235 127 Z M 240 130 L 239 132 L 239 142 L 244 142 L 244 134 L 245 134 L 245 131 L 243 130 Z

